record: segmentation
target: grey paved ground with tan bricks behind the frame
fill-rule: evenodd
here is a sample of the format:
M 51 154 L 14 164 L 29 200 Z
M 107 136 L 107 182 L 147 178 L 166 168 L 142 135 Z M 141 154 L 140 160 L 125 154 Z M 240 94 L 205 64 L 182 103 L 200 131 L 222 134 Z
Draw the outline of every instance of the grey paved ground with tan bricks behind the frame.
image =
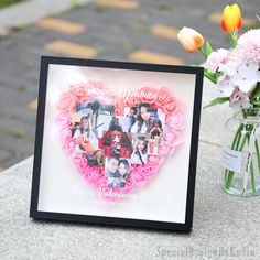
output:
M 248 18 L 246 28 L 256 23 L 250 19 L 257 14 L 258 3 L 241 2 Z M 74 1 L 66 12 L 33 25 L 18 25 L 0 40 L 0 171 L 33 153 L 41 55 L 198 64 L 203 58 L 185 54 L 176 32 L 192 26 L 214 46 L 227 46 L 216 12 L 225 4 L 207 0 L 99 0 L 79 6 Z

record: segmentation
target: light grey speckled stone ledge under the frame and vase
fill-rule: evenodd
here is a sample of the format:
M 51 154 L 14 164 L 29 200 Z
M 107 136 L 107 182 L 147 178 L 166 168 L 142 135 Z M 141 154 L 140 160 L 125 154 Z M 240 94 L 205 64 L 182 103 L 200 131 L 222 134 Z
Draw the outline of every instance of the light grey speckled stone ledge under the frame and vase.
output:
M 170 253 L 164 259 L 259 259 L 260 197 L 234 197 L 220 189 L 219 152 L 216 145 L 199 143 L 191 235 L 32 220 L 31 156 L 0 174 L 1 258 L 163 259 Z

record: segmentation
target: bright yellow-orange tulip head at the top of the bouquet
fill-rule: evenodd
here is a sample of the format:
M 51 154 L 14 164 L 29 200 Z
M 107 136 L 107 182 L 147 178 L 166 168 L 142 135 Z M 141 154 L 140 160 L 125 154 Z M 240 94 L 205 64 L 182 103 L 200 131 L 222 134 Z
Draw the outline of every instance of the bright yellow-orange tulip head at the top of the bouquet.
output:
M 241 11 L 237 3 L 226 6 L 223 11 L 221 28 L 225 32 L 235 32 L 241 28 Z

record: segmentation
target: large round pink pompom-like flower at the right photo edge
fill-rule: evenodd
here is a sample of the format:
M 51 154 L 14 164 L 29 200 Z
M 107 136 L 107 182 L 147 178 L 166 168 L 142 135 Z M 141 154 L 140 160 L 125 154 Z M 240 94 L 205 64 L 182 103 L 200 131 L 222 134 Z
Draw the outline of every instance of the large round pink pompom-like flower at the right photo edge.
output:
M 249 30 L 238 40 L 235 54 L 245 63 L 260 64 L 260 29 Z

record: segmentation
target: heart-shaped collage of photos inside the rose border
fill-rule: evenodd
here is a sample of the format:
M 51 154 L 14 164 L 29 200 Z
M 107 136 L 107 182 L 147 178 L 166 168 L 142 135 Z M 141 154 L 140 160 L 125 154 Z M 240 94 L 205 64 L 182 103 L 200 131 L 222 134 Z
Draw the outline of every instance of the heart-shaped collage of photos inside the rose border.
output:
M 72 118 L 75 153 L 89 165 L 105 166 L 109 187 L 124 187 L 131 165 L 144 165 L 149 155 L 158 154 L 165 136 L 165 115 L 147 102 L 116 116 L 112 105 L 91 99 L 78 102 Z

